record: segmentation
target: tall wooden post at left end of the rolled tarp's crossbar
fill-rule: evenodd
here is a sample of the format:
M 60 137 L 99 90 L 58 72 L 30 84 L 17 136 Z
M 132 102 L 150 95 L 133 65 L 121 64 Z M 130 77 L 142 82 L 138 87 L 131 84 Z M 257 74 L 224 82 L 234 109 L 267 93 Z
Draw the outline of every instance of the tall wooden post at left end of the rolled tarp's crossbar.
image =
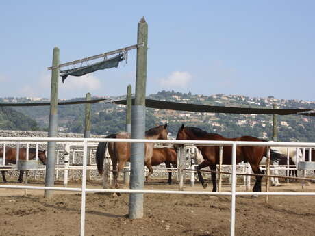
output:
M 53 66 L 59 65 L 59 49 L 53 49 Z M 51 96 L 48 137 L 57 137 L 58 134 L 58 78 L 59 68 L 51 70 Z M 55 184 L 55 142 L 47 144 L 47 163 L 45 187 L 53 187 Z M 53 196 L 53 190 L 45 190 L 45 198 Z

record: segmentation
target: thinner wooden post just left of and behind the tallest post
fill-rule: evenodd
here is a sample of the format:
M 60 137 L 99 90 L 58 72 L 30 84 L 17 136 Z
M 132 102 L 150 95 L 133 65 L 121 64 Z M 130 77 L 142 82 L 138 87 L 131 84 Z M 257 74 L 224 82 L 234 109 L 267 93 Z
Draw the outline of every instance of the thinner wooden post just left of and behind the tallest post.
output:
M 131 85 L 127 86 L 127 109 L 126 109 L 126 132 L 131 133 Z M 123 183 L 128 185 L 130 182 L 130 163 L 125 163 L 124 174 L 123 174 Z

